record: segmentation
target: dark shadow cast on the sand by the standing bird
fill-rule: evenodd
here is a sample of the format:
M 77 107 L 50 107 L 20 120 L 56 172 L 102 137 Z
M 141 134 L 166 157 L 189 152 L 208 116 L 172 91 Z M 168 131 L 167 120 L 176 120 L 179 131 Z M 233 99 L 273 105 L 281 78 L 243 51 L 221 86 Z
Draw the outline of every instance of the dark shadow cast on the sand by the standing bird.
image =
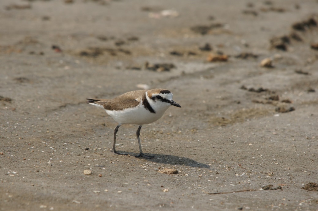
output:
M 122 152 L 122 151 L 121 153 L 126 153 L 131 156 L 138 155 L 135 153 Z M 180 166 L 189 166 L 189 167 L 197 167 L 197 168 L 210 168 L 210 166 L 205 163 L 200 163 L 187 157 L 179 157 L 175 155 L 164 155 L 164 154 L 146 154 L 146 155 L 154 155 L 155 157 L 151 159 L 147 159 L 143 157 L 139 157 L 139 158 L 145 159 L 149 162 L 163 163 L 163 164 L 169 164 L 169 165 L 180 165 Z

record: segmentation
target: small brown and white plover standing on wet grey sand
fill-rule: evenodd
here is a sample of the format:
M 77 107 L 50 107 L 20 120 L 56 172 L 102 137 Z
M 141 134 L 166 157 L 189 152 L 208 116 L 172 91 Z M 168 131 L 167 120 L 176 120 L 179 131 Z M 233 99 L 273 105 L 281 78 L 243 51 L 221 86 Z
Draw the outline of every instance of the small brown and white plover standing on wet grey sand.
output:
M 150 124 L 162 117 L 170 105 L 181 108 L 172 100 L 172 93 L 167 89 L 144 89 L 126 92 L 113 99 L 90 99 L 86 103 L 105 109 L 118 125 L 114 129 L 113 152 L 119 155 L 128 155 L 116 151 L 116 134 L 123 124 L 139 125 L 136 135 L 140 154 L 135 157 L 151 159 L 153 155 L 145 155 L 140 143 L 140 129 L 144 124 Z

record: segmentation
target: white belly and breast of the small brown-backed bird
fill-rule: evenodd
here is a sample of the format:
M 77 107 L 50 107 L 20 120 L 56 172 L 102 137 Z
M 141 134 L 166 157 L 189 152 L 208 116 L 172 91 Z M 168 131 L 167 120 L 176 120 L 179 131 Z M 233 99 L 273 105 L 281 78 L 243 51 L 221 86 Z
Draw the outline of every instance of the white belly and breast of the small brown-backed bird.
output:
M 122 111 L 106 110 L 106 112 L 118 123 L 143 125 L 160 119 L 168 108 L 169 106 L 158 109 L 154 114 L 145 109 L 142 104 L 139 104 L 135 108 L 131 109 L 125 109 Z

